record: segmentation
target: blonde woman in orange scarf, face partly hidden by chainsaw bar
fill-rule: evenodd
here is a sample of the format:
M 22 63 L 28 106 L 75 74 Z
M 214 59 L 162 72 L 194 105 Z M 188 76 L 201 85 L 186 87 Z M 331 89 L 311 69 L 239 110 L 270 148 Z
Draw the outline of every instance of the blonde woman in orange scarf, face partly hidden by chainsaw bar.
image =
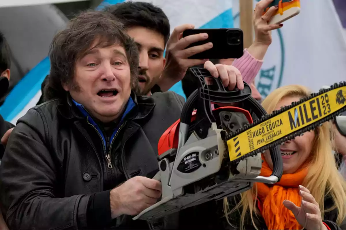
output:
M 310 95 L 302 86 L 274 90 L 262 103 L 267 113 Z M 227 228 L 346 229 L 346 183 L 337 170 L 331 125 L 285 142 L 280 148 L 283 176 L 274 185 L 256 183 L 241 195 L 224 200 Z M 262 154 L 261 176 L 270 176 L 270 153 Z M 234 226 L 236 225 L 236 226 Z

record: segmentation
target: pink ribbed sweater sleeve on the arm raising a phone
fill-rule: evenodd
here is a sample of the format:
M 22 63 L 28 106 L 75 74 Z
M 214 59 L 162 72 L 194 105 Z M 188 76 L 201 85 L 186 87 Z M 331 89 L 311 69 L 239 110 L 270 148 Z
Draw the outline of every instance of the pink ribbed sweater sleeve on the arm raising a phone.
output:
M 242 73 L 243 81 L 251 83 L 258 71 L 260 71 L 263 61 L 255 59 L 247 49 L 244 50 L 242 57 L 233 61 L 232 66 L 236 67 Z

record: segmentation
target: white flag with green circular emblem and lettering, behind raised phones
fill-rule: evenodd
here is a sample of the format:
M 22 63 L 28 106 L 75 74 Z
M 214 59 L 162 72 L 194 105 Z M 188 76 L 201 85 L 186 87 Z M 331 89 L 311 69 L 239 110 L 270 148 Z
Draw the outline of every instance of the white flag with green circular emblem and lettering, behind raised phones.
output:
M 272 32 L 273 42 L 256 77 L 263 97 L 289 84 L 318 91 L 346 80 L 346 42 L 333 1 L 300 2 L 301 12 Z M 232 10 L 238 28 L 239 0 L 233 0 Z

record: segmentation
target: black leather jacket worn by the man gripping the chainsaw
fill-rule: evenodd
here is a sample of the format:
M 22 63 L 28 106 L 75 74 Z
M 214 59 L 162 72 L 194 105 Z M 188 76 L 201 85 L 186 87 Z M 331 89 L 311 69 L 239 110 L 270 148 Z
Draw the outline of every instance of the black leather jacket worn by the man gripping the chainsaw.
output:
M 1 210 L 10 228 L 95 227 L 88 226 L 89 199 L 100 192 L 106 198 L 107 189 L 121 182 L 116 170 L 127 180 L 158 169 L 158 140 L 180 118 L 184 99 L 174 92 L 131 97 L 135 106 L 111 148 L 112 169 L 98 132 L 72 100 L 45 102 L 18 120 L 0 166 Z M 103 209 L 110 210 L 109 191 L 105 202 Z M 148 224 L 123 215 L 96 228 L 144 229 Z

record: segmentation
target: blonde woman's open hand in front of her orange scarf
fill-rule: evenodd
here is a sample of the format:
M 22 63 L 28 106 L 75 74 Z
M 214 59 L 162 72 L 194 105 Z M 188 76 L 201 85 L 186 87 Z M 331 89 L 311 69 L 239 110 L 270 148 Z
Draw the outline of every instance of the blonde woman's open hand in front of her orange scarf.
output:
M 293 202 L 284 200 L 283 205 L 292 211 L 295 219 L 305 229 L 327 229 L 322 222 L 321 211 L 315 198 L 310 191 L 299 186 L 299 195 L 302 197 L 300 207 L 297 207 Z

